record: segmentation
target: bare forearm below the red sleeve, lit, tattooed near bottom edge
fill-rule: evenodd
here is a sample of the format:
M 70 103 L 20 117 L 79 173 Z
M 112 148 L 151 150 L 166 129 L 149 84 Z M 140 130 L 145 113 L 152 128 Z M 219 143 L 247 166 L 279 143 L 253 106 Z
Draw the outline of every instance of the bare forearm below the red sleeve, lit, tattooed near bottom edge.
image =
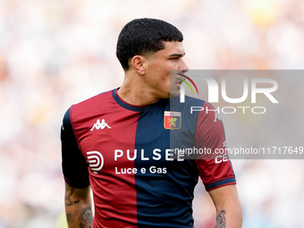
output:
M 241 203 L 235 185 L 210 190 L 216 209 L 215 228 L 241 228 Z

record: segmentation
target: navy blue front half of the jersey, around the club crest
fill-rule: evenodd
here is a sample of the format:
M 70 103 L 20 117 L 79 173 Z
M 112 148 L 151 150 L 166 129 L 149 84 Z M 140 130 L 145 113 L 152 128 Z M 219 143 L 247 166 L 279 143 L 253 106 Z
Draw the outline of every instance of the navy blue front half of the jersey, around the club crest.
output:
M 176 102 L 171 101 L 171 104 Z M 164 128 L 165 111 L 182 112 L 183 110 L 187 113 L 189 111 L 190 114 L 190 110 L 181 105 L 170 106 L 167 102 L 166 106 L 164 104 L 152 109 L 150 107 L 148 111 L 145 110 L 139 114 L 135 138 L 138 155 L 135 159 L 135 167 L 138 169 L 138 173 L 135 174 L 135 184 L 139 227 L 140 225 L 143 227 L 153 227 L 153 225 L 193 227 L 192 198 L 194 187 L 198 182 L 195 160 L 183 162 L 165 160 L 165 149 L 173 148 L 172 139 L 177 139 L 178 145 L 185 148 L 190 145 L 193 147 L 193 137 L 195 142 L 197 117 L 194 118 L 194 122 L 187 123 L 189 114 L 182 114 L 181 130 L 165 130 Z M 185 133 L 192 136 L 183 137 Z M 144 149 L 143 157 L 148 157 L 149 160 L 142 160 L 141 149 Z M 161 158 L 156 160 L 158 156 Z M 142 168 L 146 169 L 146 173 L 140 172 Z

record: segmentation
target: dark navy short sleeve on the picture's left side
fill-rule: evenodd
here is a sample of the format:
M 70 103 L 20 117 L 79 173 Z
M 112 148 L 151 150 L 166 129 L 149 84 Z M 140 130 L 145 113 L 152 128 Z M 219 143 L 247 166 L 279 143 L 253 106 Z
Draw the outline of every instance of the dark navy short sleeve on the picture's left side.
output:
M 80 152 L 72 130 L 70 109 L 64 114 L 63 125 L 61 127 L 64 181 L 75 188 L 86 188 L 89 186 L 88 165 Z

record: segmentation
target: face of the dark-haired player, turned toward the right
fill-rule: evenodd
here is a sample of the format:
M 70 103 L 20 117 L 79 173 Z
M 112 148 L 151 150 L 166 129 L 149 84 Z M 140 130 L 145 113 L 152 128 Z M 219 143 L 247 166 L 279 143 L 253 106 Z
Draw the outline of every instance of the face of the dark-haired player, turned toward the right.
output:
M 172 74 L 170 71 L 183 73 L 189 69 L 183 62 L 182 42 L 165 42 L 165 48 L 150 54 L 147 57 L 146 74 L 144 75 L 145 83 L 148 85 L 151 93 L 157 98 L 178 97 L 180 95 L 182 76 Z

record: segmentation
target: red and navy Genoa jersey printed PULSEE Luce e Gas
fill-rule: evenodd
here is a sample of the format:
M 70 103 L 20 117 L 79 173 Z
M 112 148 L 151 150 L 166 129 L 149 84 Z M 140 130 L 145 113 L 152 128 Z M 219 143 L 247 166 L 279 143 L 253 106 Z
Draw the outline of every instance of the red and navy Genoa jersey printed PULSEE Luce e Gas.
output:
M 206 190 L 235 184 L 224 126 L 203 100 L 160 99 L 148 106 L 125 103 L 117 89 L 73 105 L 61 133 L 64 180 L 90 185 L 94 228 L 193 227 L 198 178 Z

